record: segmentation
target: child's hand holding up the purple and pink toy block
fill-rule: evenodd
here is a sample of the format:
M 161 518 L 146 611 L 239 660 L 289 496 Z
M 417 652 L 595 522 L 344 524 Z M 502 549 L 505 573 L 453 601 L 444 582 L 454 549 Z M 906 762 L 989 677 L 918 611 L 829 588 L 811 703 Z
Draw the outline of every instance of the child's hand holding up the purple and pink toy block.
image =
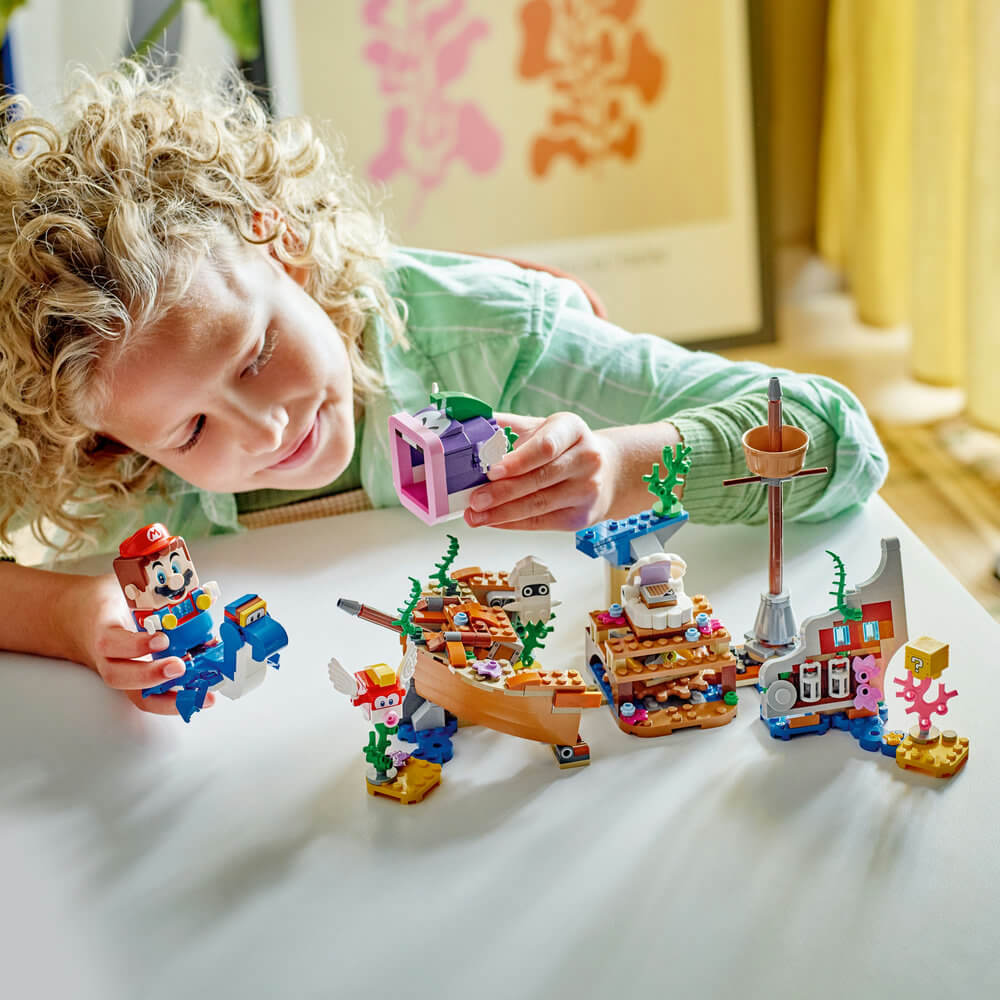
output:
M 496 419 L 518 439 L 490 467 L 489 485 L 470 497 L 468 524 L 576 531 L 607 516 L 620 464 L 611 437 L 575 413 L 545 419 L 498 413 Z

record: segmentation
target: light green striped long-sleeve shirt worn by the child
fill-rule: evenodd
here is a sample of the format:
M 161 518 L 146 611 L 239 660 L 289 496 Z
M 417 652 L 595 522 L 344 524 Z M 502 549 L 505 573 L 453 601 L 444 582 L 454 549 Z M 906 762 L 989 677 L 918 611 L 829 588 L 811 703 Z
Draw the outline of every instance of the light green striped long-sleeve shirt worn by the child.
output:
M 365 350 L 380 364 L 385 389 L 367 404 L 354 460 L 336 483 L 306 493 L 234 496 L 206 493 L 167 475 L 166 498 L 151 496 L 128 523 L 115 518 L 118 523 L 108 524 L 109 546 L 151 520 L 187 537 L 236 531 L 239 511 L 359 485 L 376 507 L 397 504 L 387 420 L 426 405 L 434 382 L 502 411 L 547 416 L 572 410 L 595 429 L 671 420 L 692 449 L 684 505 L 694 521 L 766 517 L 765 490 L 727 489 L 722 480 L 747 474 L 740 438 L 767 422 L 767 381 L 776 373 L 785 422 L 810 436 L 808 464 L 830 468 L 828 476 L 786 487 L 787 516 L 832 517 L 866 500 L 885 478 L 885 452 L 861 404 L 830 379 L 626 333 L 595 317 L 573 282 L 504 261 L 400 250 L 389 286 L 407 310 L 409 348 L 393 344 L 381 321 L 369 324 Z

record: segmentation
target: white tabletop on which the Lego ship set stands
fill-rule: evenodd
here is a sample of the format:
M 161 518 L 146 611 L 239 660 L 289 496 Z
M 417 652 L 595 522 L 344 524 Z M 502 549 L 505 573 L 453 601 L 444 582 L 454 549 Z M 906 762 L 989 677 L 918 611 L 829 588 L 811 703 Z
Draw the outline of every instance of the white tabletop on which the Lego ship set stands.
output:
M 860 582 L 880 536 L 901 538 L 911 636 L 951 643 L 945 726 L 972 740 L 951 782 L 847 733 L 773 740 L 742 688 L 731 725 L 658 740 L 590 711 L 593 760 L 571 771 L 463 729 L 425 802 L 372 798 L 364 719 L 326 663 L 398 645 L 335 601 L 394 610 L 445 530 L 456 566 L 549 562 L 564 604 L 541 658 L 579 665 L 603 564 L 570 536 L 400 510 L 195 543 L 202 578 L 259 591 L 291 643 L 263 687 L 188 726 L 83 668 L 0 657 L 0 994 L 1000 996 L 1000 630 L 881 501 L 788 526 L 786 585 L 801 621 L 829 606 L 823 549 Z M 734 634 L 752 623 L 766 529 L 688 525 L 672 547 Z

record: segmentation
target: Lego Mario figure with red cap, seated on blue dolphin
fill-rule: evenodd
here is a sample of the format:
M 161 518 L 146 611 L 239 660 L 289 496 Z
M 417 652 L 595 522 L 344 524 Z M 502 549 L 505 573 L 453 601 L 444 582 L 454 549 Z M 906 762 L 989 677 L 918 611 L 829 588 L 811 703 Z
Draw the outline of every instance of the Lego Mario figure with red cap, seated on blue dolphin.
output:
M 162 524 L 147 524 L 118 549 L 115 575 L 140 631 L 163 632 L 170 645 L 154 659 L 191 654 L 216 645 L 208 609 L 219 596 L 215 583 L 202 587 L 184 539 Z

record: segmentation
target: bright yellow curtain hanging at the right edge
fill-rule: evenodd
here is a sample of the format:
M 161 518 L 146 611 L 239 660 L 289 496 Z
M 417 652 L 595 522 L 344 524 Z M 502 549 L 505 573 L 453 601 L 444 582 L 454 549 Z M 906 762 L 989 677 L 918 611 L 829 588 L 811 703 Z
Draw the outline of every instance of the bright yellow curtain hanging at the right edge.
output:
M 1000 431 L 1000 0 L 831 0 L 820 253 Z

